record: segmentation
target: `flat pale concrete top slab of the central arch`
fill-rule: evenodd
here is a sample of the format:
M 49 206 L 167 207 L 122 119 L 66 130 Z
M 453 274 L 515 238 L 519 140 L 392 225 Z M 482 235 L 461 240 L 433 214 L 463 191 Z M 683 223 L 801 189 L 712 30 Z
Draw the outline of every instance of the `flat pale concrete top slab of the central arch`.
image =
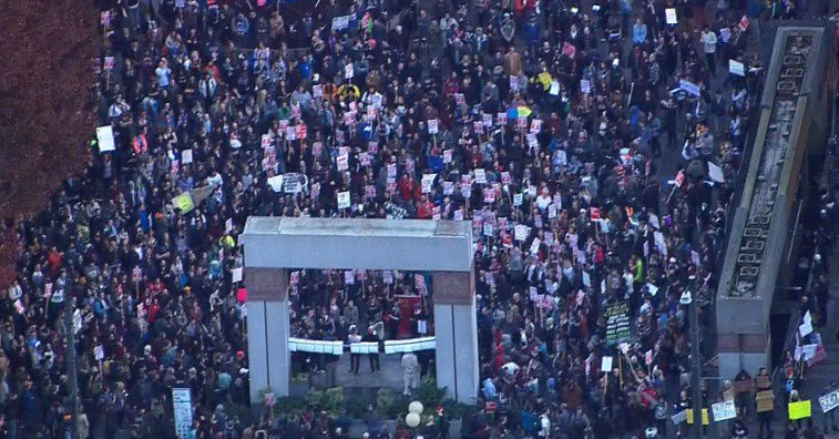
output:
M 249 267 L 472 269 L 464 221 L 252 216 L 241 242 Z

